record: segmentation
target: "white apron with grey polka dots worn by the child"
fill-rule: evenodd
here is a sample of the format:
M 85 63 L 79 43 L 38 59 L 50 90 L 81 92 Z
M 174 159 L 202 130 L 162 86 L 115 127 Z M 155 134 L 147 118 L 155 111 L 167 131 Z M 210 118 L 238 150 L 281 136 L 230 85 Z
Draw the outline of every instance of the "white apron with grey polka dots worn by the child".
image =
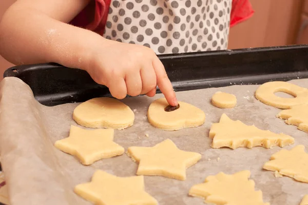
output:
M 113 0 L 104 37 L 157 54 L 227 48 L 232 0 Z

